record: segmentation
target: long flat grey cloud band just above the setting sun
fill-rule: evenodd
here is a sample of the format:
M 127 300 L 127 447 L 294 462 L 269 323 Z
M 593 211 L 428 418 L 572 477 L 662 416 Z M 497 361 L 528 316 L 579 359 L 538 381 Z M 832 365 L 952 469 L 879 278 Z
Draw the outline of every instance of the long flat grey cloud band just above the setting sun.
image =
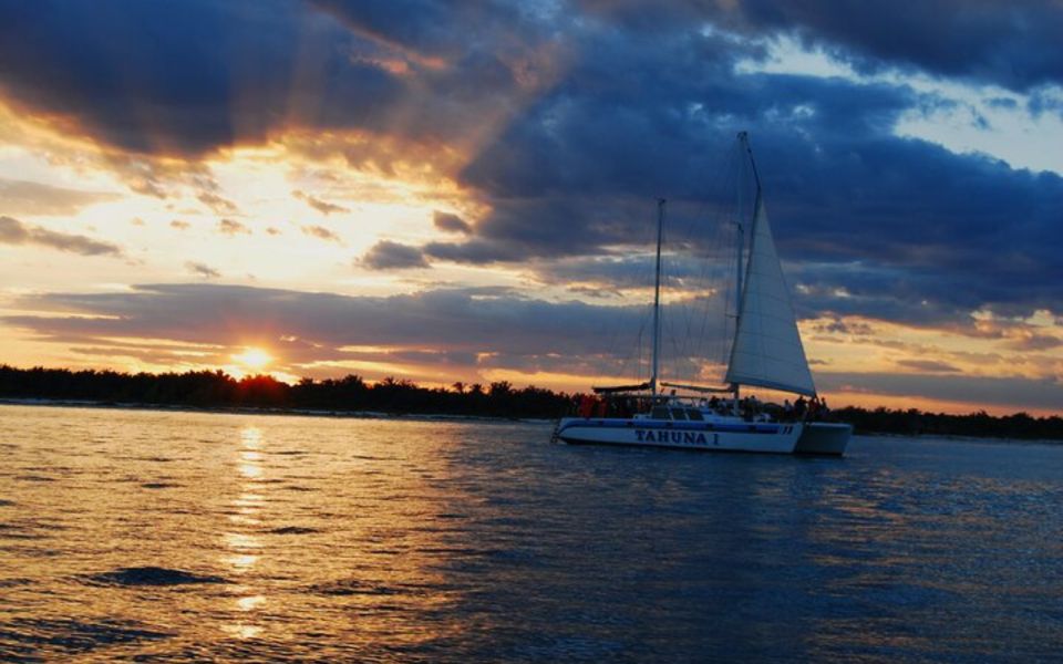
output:
M 647 310 L 550 303 L 475 289 L 376 298 L 202 283 L 50 293 L 20 304 L 71 315 L 14 315 L 6 323 L 71 341 L 135 336 L 233 344 L 254 331 L 333 349 L 385 345 L 514 357 L 607 353 L 602 336 L 630 330 L 633 338 Z M 621 346 L 619 353 L 629 355 L 630 346 Z

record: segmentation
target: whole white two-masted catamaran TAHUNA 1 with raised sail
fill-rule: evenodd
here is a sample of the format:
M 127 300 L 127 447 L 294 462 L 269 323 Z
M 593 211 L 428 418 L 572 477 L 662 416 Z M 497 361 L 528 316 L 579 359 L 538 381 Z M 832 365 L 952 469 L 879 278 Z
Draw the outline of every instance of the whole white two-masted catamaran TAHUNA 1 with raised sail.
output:
M 740 415 L 741 386 L 765 387 L 816 397 L 797 321 L 783 277 L 775 240 L 761 195 L 756 163 L 745 132 L 739 134 L 756 184 L 747 251 L 737 242 L 739 311 L 725 386 L 704 387 L 659 380 L 661 332 L 661 238 L 664 201 L 658 204 L 657 277 L 653 297 L 652 365 L 649 382 L 623 387 L 598 387 L 612 398 L 637 400 L 644 411 L 630 417 L 565 417 L 554 438 L 571 445 L 629 445 L 719 452 L 843 455 L 853 428 L 847 424 L 809 422 L 803 417 L 772 421 L 765 415 Z M 740 227 L 741 228 L 741 227 Z M 743 253 L 747 262 L 743 272 Z M 664 393 L 664 388 L 669 393 Z M 694 396 L 677 396 L 677 390 Z M 730 394 L 713 398 L 709 393 Z

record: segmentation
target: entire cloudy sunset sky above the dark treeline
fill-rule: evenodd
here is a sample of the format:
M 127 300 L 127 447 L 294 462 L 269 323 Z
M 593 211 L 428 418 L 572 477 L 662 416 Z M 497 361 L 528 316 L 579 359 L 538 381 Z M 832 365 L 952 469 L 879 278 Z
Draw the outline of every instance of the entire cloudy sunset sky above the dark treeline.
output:
M 656 200 L 711 217 L 747 131 L 832 405 L 1060 413 L 1060 0 L 0 0 L 0 363 L 644 377 Z

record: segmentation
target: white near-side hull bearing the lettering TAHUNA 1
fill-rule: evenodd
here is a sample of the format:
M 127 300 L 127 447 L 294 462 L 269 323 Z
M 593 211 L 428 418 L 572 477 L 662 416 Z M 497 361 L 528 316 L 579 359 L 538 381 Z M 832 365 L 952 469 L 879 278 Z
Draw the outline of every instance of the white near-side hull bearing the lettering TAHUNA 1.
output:
M 702 452 L 794 454 L 801 423 L 711 423 L 567 417 L 555 437 L 569 445 L 668 447 Z

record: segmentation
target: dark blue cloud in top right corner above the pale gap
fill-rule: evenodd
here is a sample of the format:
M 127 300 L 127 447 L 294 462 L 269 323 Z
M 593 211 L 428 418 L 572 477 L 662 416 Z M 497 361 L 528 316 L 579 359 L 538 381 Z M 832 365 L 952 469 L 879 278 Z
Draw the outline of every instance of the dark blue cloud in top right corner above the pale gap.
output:
M 578 0 L 630 30 L 713 23 L 751 37 L 792 34 L 858 69 L 907 68 L 1028 90 L 1063 83 L 1063 4 L 1055 0 Z

